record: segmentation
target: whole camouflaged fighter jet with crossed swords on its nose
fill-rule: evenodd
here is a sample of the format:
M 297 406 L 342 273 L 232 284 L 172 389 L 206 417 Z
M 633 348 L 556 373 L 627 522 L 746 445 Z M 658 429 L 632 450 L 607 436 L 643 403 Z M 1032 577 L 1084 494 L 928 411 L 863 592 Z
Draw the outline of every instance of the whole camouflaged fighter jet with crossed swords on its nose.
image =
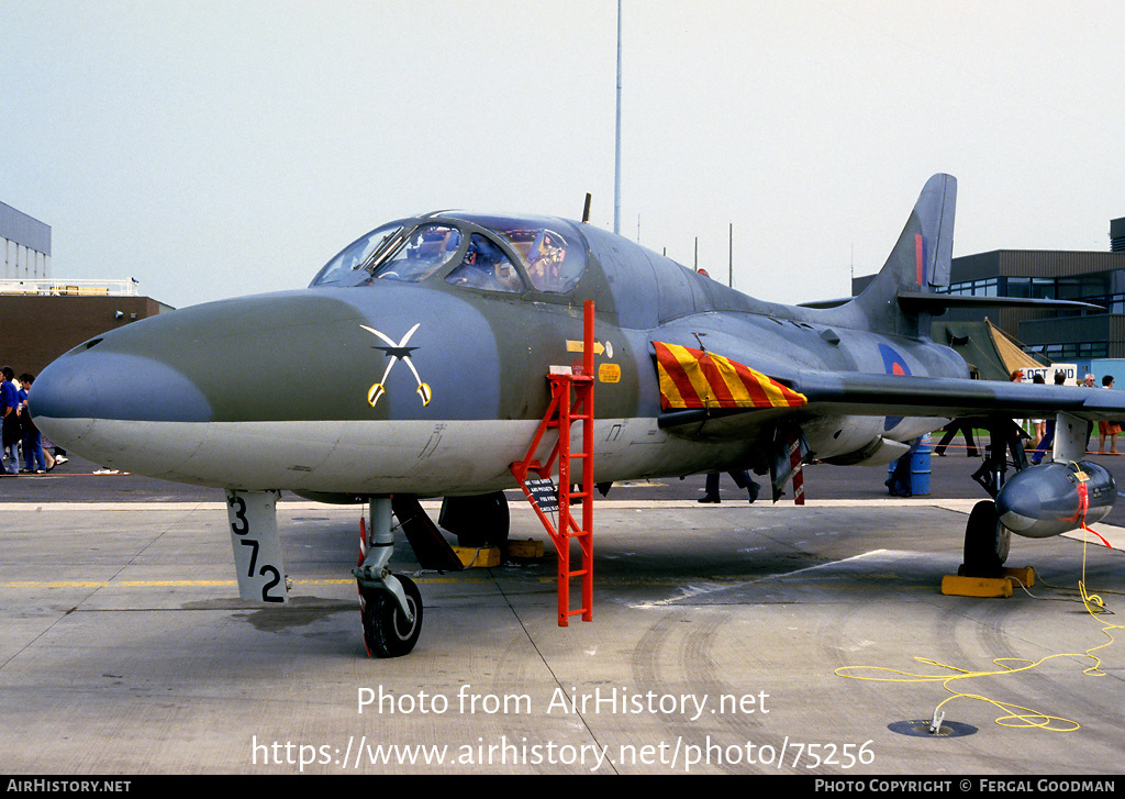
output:
M 1077 463 L 1089 422 L 1125 406 L 1113 392 L 972 380 L 930 339 L 951 306 L 1044 302 L 945 293 L 955 196 L 954 178 L 934 176 L 876 279 L 836 307 L 754 299 L 590 224 L 403 218 L 345 246 L 308 288 L 87 341 L 42 372 L 32 412 L 91 461 L 225 490 L 246 599 L 287 598 L 278 492 L 370 503 L 354 574 L 377 655 L 408 653 L 422 623 L 417 587 L 388 568 L 393 515 L 425 562 L 449 563 L 449 545 L 420 520 L 417 497 L 444 497 L 447 530 L 503 541 L 503 491 L 539 441 L 549 375 L 578 358 L 596 395 L 592 458 L 564 483 L 753 469 L 776 501 L 802 460 L 888 464 L 951 419 L 975 418 L 992 432 L 976 474 L 992 499 L 970 517 L 965 559 L 989 572 L 1009 530 L 1056 535 L 1116 496 L 1096 465 L 1028 467 L 1010 419 L 1059 414 L 1054 460 Z M 532 451 L 539 463 L 551 434 Z M 1005 479 L 1008 450 L 1018 481 Z

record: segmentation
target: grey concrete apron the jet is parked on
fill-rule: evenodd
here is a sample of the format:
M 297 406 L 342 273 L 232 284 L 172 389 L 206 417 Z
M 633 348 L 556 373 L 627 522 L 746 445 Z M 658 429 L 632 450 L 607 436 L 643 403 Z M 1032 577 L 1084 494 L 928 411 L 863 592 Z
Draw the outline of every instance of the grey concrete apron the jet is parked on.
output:
M 291 601 L 263 608 L 237 598 L 218 492 L 78 459 L 3 477 L 0 770 L 1119 774 L 1125 530 L 1014 537 L 1033 586 L 944 595 L 978 463 L 933 458 L 906 500 L 885 469 L 809 466 L 803 508 L 727 476 L 719 505 L 695 502 L 702 477 L 614 486 L 594 620 L 567 628 L 513 494 L 512 539 L 546 555 L 416 574 L 422 636 L 394 659 L 364 653 L 359 508 L 282 497 Z M 417 572 L 405 544 L 393 563 Z

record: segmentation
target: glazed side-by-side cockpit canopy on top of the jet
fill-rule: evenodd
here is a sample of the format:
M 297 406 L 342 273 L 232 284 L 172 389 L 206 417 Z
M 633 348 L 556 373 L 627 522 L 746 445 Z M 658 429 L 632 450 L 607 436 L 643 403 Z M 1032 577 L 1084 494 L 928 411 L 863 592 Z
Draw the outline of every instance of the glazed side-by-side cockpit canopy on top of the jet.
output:
M 328 261 L 312 286 L 441 280 L 485 291 L 566 294 L 586 242 L 564 219 L 430 214 L 377 227 Z

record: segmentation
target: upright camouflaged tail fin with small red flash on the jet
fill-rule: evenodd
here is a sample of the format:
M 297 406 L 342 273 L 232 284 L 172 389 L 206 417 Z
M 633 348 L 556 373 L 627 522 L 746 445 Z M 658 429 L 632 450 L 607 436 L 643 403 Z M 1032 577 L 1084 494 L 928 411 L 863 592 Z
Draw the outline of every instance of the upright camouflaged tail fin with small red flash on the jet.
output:
M 926 181 L 886 263 L 848 303 L 866 326 L 899 335 L 928 334 L 929 309 L 940 313 L 940 308 L 919 300 L 950 285 L 956 200 L 953 176 L 935 174 Z

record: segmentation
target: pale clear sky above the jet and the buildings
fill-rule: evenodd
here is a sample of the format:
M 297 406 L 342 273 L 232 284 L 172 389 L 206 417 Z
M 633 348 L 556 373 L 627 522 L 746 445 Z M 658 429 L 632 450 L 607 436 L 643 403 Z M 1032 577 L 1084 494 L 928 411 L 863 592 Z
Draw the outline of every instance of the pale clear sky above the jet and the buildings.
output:
M 436 208 L 612 228 L 614 0 L 0 0 L 0 201 L 55 277 L 174 306 L 299 288 Z M 798 303 L 926 179 L 954 255 L 1107 250 L 1125 3 L 624 0 L 622 233 Z

